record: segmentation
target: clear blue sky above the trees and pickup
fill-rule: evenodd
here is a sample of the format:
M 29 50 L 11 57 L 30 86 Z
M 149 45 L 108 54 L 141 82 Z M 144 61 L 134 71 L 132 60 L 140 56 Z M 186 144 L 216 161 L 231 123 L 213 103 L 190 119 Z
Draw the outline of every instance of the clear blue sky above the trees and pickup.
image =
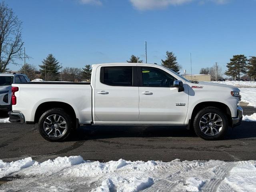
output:
M 23 22 L 28 63 L 52 53 L 63 66 L 126 62 L 131 54 L 160 64 L 176 54 L 193 74 L 234 54 L 256 56 L 256 0 L 5 0 Z M 23 64 L 23 61 L 20 61 Z M 19 66 L 10 65 L 17 70 Z

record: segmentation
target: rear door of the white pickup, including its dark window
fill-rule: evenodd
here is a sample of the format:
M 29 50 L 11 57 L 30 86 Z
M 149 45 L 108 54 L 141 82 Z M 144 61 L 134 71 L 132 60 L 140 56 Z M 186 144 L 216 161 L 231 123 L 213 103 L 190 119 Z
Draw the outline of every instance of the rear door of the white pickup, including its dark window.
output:
M 138 122 L 136 65 L 102 65 L 96 69 L 94 115 L 95 124 Z

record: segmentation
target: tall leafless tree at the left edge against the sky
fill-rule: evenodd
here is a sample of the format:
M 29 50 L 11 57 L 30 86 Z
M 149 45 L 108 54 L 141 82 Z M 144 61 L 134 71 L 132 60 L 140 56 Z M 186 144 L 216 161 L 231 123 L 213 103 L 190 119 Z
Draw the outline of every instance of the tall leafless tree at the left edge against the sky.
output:
M 11 8 L 0 3 L 0 72 L 6 72 L 8 64 L 22 59 L 22 22 Z

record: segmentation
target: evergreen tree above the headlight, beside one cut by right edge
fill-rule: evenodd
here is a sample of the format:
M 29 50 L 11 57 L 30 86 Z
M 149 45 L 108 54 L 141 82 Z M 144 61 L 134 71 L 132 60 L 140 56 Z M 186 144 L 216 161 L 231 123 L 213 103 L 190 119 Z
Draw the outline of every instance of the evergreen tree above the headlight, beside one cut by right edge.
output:
M 237 77 L 240 80 L 240 75 L 246 74 L 248 66 L 247 66 L 247 58 L 244 55 L 234 55 L 230 62 L 227 63 L 227 68 L 225 75 Z

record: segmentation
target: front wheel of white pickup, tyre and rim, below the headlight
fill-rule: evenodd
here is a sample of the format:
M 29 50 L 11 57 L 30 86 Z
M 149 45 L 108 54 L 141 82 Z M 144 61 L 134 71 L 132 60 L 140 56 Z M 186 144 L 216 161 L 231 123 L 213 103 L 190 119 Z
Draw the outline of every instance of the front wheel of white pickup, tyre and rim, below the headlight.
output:
M 228 118 L 218 108 L 203 108 L 196 114 L 194 119 L 194 130 L 204 140 L 218 140 L 228 130 Z

